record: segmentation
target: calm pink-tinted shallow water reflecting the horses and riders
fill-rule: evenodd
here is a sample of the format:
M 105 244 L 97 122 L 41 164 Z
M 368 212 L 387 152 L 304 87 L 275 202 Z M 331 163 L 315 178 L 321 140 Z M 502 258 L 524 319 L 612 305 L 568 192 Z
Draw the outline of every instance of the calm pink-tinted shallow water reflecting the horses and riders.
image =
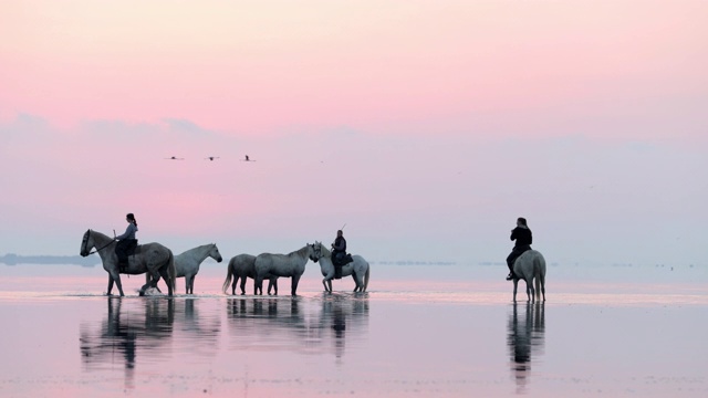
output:
M 702 269 L 549 270 L 545 303 L 520 285 L 513 304 L 494 268 L 373 266 L 368 293 L 325 294 L 310 264 L 293 298 L 223 295 L 205 265 L 171 298 L 135 276 L 106 297 L 101 268 L 0 265 L 0 395 L 708 396 Z

